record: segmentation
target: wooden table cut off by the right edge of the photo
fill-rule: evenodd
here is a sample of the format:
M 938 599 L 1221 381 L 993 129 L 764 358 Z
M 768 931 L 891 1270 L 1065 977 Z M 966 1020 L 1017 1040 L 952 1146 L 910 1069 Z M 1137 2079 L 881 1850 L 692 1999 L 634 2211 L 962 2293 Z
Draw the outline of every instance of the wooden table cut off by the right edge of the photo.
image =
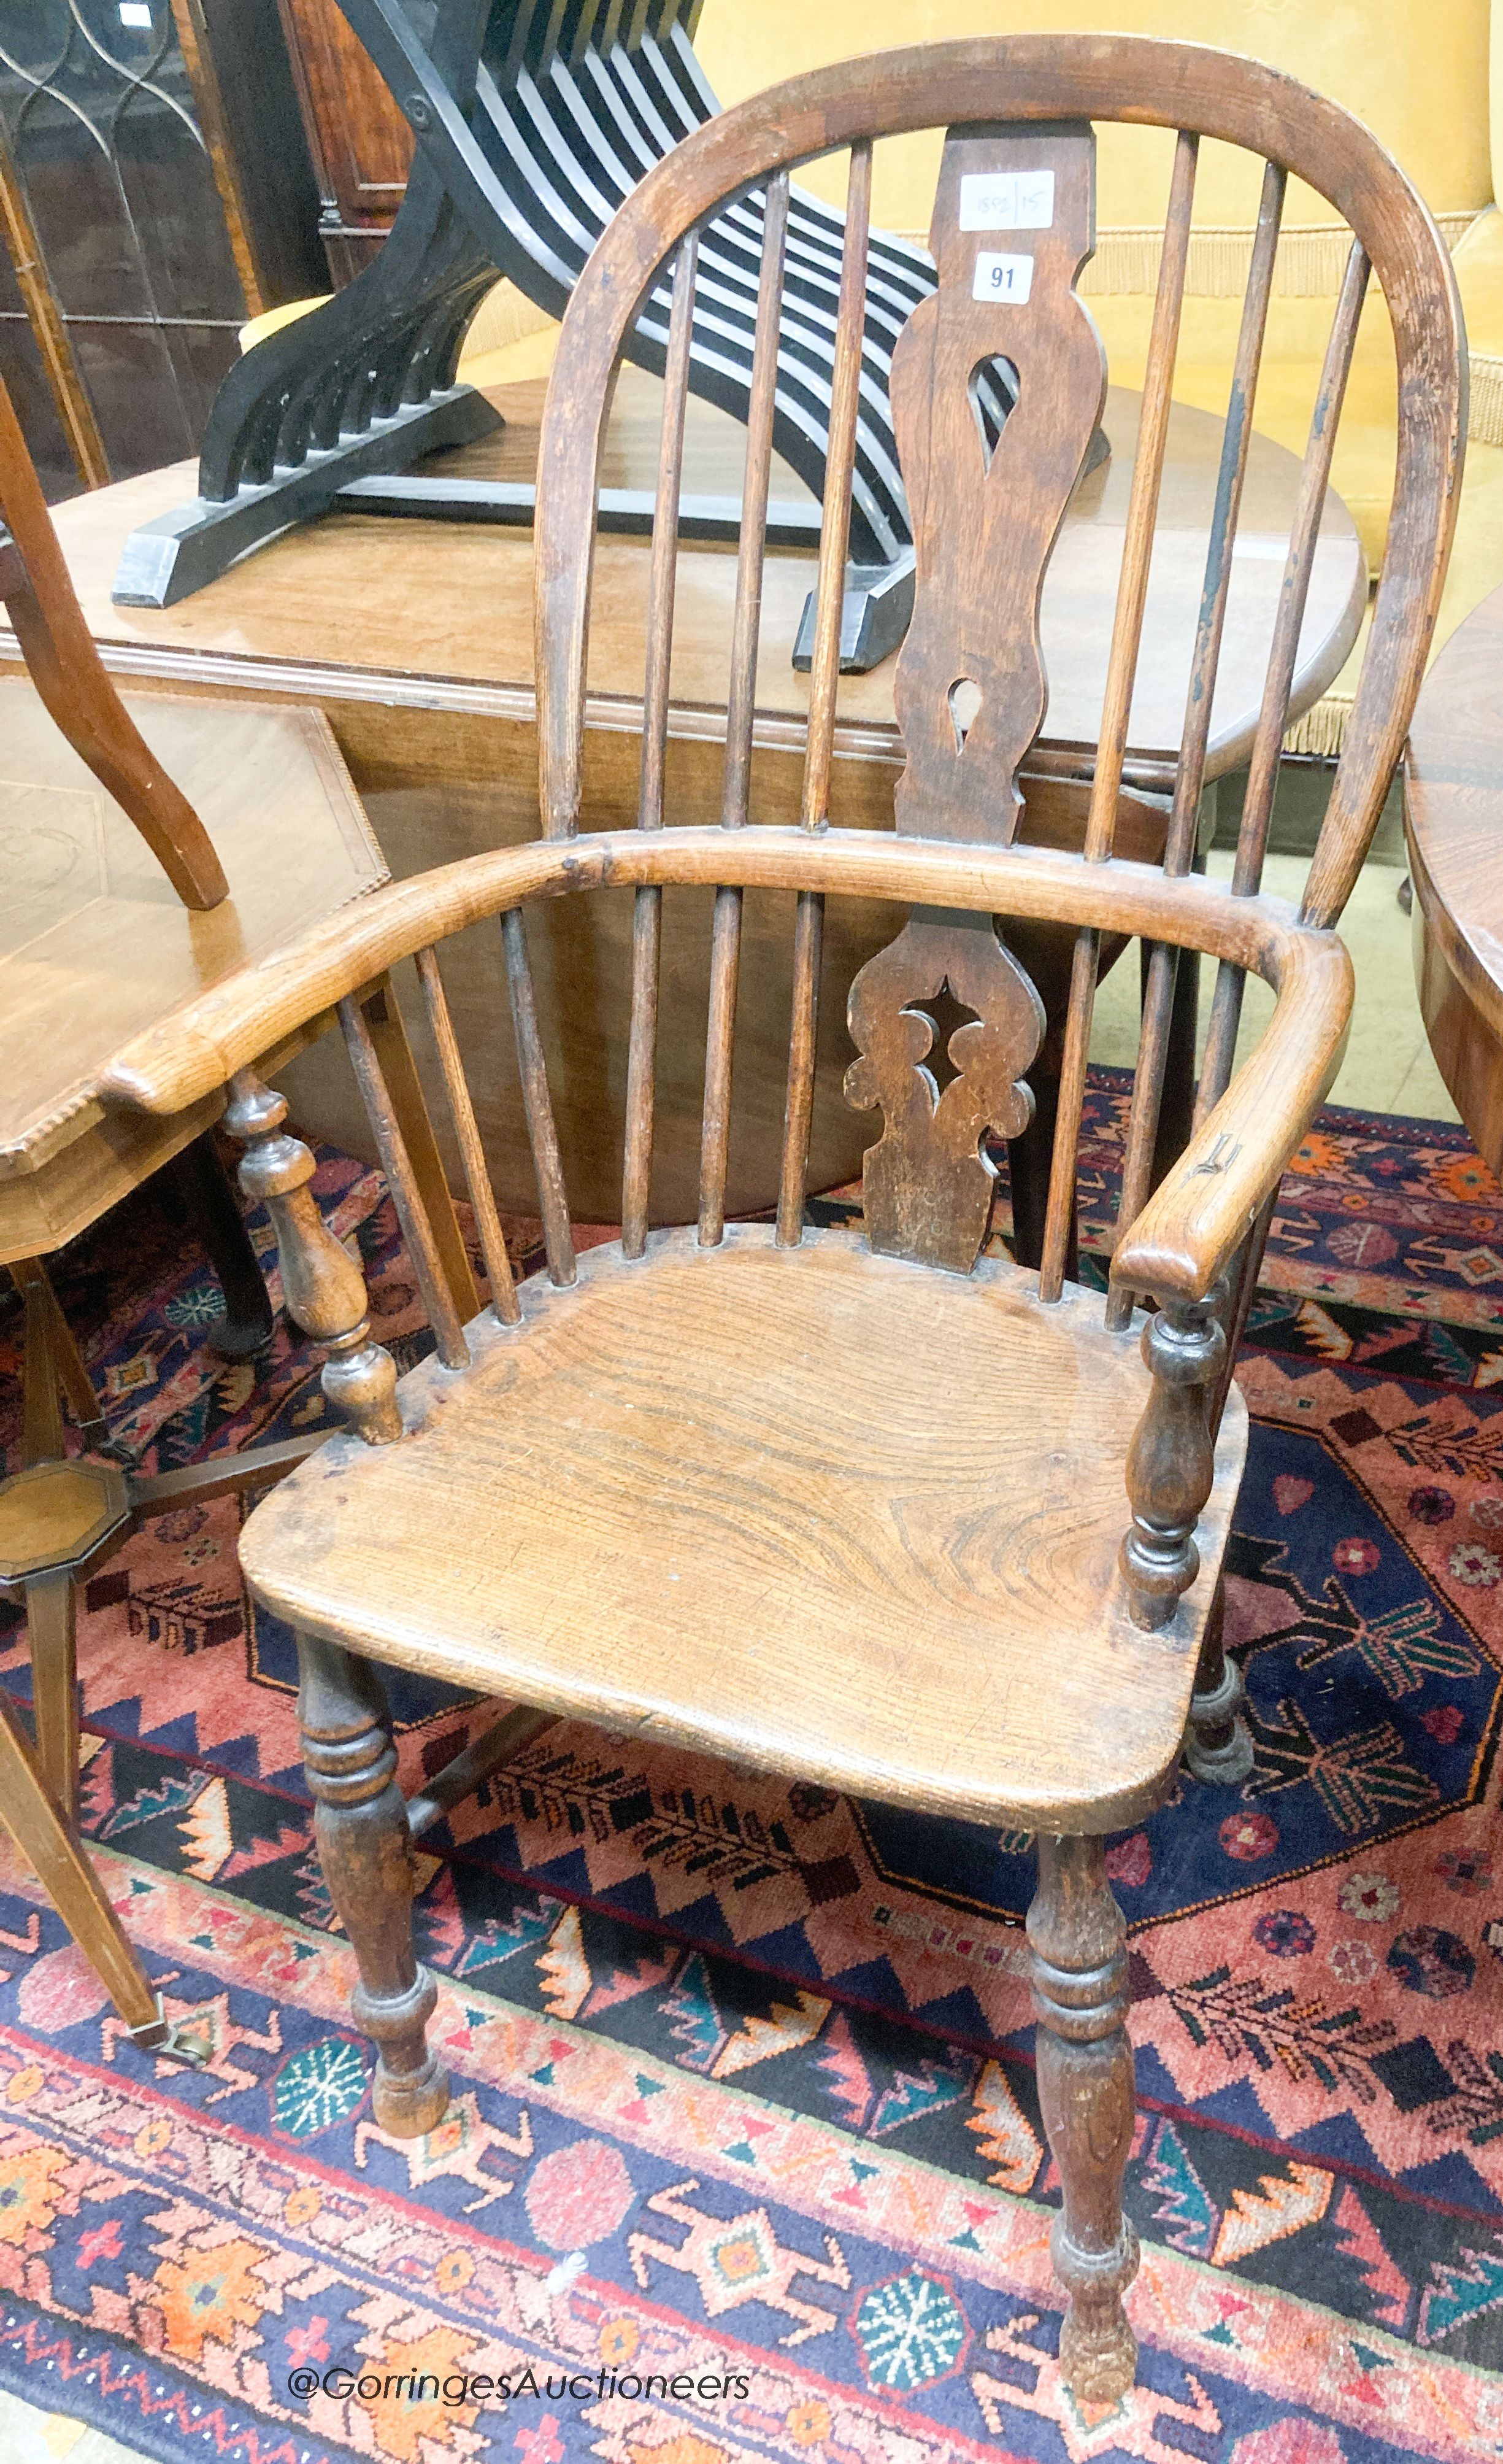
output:
M 1503 1173 L 1503 589 L 1424 678 L 1404 759 L 1414 981 L 1436 1067 Z

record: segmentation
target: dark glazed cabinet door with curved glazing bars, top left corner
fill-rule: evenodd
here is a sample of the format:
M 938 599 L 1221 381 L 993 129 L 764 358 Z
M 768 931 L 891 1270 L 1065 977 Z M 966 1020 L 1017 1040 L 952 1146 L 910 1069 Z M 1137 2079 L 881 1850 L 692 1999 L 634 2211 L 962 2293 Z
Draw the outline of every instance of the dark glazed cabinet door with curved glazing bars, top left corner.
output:
M 291 84 L 281 108 L 264 89 L 266 44 L 286 81 L 273 0 L 219 10 L 224 42 L 219 84 L 200 0 L 0 7 L 0 370 L 54 495 L 195 453 L 239 325 L 269 303 L 261 172 L 222 113 L 269 113 L 278 145 L 291 116 L 301 143 Z

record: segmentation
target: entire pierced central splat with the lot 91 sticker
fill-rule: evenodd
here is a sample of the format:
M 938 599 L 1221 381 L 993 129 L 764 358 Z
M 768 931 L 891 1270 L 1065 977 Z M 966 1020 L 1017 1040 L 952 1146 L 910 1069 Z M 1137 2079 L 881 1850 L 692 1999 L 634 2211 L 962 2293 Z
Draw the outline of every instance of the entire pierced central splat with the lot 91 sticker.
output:
M 1045 569 L 1106 399 L 1101 338 L 1074 293 L 1094 246 L 1094 165 L 1079 121 L 944 143 L 929 232 L 939 291 L 892 357 L 917 559 L 894 680 L 897 828 L 914 838 L 1008 845 L 1018 830 L 1018 769 L 1045 715 Z M 988 416 L 998 370 L 1013 399 L 1003 421 Z M 991 1220 L 981 1138 L 1018 1138 L 1032 1119 L 1020 1079 L 1042 1003 L 986 917 L 919 907 L 855 978 L 848 1018 L 862 1060 L 845 1096 L 885 1114 L 865 1158 L 867 1239 L 968 1274 Z

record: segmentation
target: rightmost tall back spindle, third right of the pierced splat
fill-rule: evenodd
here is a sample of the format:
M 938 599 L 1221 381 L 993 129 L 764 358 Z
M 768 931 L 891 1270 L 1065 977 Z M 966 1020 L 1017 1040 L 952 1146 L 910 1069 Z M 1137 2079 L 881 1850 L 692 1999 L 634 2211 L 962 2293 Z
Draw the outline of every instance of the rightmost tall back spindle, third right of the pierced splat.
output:
M 1237 857 L 1232 865 L 1232 897 L 1239 899 L 1257 897 L 1264 877 L 1269 821 L 1274 818 L 1274 788 L 1279 786 L 1279 756 L 1284 752 L 1289 697 L 1294 692 L 1294 670 L 1298 663 L 1298 636 L 1311 589 L 1316 547 L 1321 540 L 1326 490 L 1331 485 L 1331 456 L 1335 453 L 1340 404 L 1345 399 L 1353 350 L 1358 347 L 1358 325 L 1363 320 L 1363 301 L 1367 296 L 1367 254 L 1360 241 L 1353 241 L 1340 298 L 1335 303 L 1335 318 L 1331 320 L 1326 362 L 1321 367 L 1321 384 L 1311 416 L 1311 441 L 1306 446 L 1294 527 L 1289 532 L 1289 554 L 1284 559 L 1284 586 L 1279 591 L 1279 614 L 1274 618 L 1274 646 L 1269 650 L 1264 700 L 1257 719 L 1257 737 L 1252 742 L 1252 761 L 1247 766 L 1247 796 L 1242 801 L 1242 828 L 1237 830 Z M 1200 1064 L 1200 1094 L 1195 1101 L 1197 1121 L 1205 1119 L 1212 1104 L 1220 1104 L 1232 1079 L 1237 1027 L 1242 1023 L 1242 968 L 1222 961 L 1210 1005 L 1205 1060 Z

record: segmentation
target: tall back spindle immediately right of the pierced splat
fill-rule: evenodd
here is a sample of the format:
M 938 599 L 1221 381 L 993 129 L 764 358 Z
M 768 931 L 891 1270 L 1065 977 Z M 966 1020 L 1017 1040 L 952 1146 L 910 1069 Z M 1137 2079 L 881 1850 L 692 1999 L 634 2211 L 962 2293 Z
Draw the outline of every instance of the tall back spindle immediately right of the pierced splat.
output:
M 1138 673 L 1138 643 L 1143 638 L 1148 564 L 1153 557 L 1153 525 L 1158 520 L 1158 490 L 1163 480 L 1163 451 L 1168 444 L 1175 350 L 1180 342 L 1180 308 L 1185 301 L 1185 266 L 1190 261 L 1190 209 L 1195 205 L 1197 150 L 1200 138 L 1183 128 L 1175 145 L 1168 217 L 1163 224 L 1163 254 L 1158 259 L 1158 291 L 1153 298 L 1153 328 L 1148 335 L 1143 409 L 1138 416 L 1138 451 L 1133 456 L 1133 485 L 1128 493 L 1121 547 L 1121 579 L 1116 584 L 1116 611 L 1111 618 L 1101 739 L 1096 752 L 1096 774 L 1092 781 L 1092 801 L 1087 808 L 1084 855 L 1092 865 L 1106 862 L 1116 830 L 1116 803 L 1121 796 L 1121 769 L 1133 707 L 1133 680 Z M 1087 1060 L 1092 1050 L 1092 1013 L 1096 1008 L 1099 963 L 1101 934 L 1087 924 L 1074 939 L 1069 963 L 1069 1008 L 1064 1015 L 1064 1057 L 1059 1064 L 1059 1111 L 1055 1119 L 1055 1148 L 1050 1156 L 1050 1205 L 1045 1212 L 1045 1247 L 1040 1264 L 1042 1301 L 1057 1301 L 1064 1291 L 1064 1259 L 1069 1254 L 1069 1230 L 1074 1222 L 1074 1158 L 1087 1099 Z

